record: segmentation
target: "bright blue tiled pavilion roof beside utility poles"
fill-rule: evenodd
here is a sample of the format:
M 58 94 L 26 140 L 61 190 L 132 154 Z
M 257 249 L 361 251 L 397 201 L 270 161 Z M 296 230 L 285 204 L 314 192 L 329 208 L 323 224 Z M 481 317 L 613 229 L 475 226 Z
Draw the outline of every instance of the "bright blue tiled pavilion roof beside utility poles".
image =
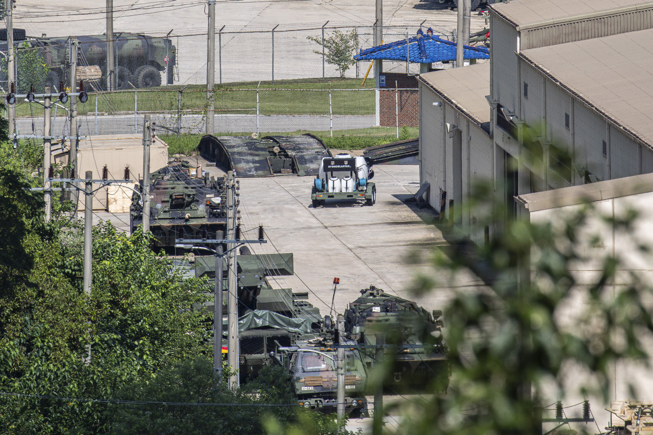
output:
M 463 48 L 462 57 L 464 59 L 490 59 L 490 51 L 485 47 L 466 45 Z M 405 62 L 406 58 L 413 63 L 454 61 L 456 60 L 456 43 L 436 36 L 422 36 L 420 29 L 417 31 L 417 37 L 360 50 L 360 54 L 354 56 L 357 61 L 381 59 Z

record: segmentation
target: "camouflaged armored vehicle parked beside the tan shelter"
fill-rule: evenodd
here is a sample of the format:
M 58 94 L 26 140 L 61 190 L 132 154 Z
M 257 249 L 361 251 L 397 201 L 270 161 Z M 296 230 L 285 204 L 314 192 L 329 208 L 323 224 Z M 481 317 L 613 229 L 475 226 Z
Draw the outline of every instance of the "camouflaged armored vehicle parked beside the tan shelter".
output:
M 184 162 L 173 162 L 150 176 L 150 231 L 155 246 L 174 248 L 178 238 L 222 238 L 227 227 L 227 189 L 223 178 Z M 143 222 L 140 198 L 143 181 L 136 185 L 129 207 L 131 231 Z

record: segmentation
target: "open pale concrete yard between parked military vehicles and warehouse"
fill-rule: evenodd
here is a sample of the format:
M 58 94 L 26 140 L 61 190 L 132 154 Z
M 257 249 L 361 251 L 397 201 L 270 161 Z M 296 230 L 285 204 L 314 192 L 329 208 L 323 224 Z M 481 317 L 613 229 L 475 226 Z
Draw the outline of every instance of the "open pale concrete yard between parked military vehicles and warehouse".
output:
M 310 176 L 240 179 L 242 225 L 263 224 L 269 240 L 253 246 L 253 251 L 294 253 L 295 276 L 280 277 L 276 285 L 309 291 L 309 301 L 323 315 L 330 310 L 334 277 L 340 278 L 334 302 L 340 313 L 369 285 L 416 300 L 427 310 L 441 308 L 454 291 L 448 276 L 429 265 L 433 248 L 446 244 L 432 224 L 433 211 L 404 202 L 419 189 L 418 166 L 374 169 L 374 206 L 341 201 L 313 208 Z M 410 289 L 420 273 L 438 274 L 443 287 L 415 297 Z M 470 273 L 458 274 L 455 282 L 456 286 L 480 285 Z

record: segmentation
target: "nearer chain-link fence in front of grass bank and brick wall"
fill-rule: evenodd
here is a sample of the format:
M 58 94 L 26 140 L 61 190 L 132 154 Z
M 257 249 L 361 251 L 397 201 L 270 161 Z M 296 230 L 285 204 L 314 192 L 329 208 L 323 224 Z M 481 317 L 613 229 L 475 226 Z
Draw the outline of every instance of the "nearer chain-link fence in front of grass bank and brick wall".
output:
M 387 93 L 387 96 L 383 93 Z M 342 131 L 379 125 L 400 128 L 417 118 L 416 89 L 245 88 L 215 91 L 216 133 Z M 380 110 L 377 108 L 380 107 Z M 22 135 L 42 135 L 39 106 L 16 108 Z M 204 133 L 208 110 L 206 91 L 135 89 L 91 93 L 77 105 L 79 133 L 121 135 L 142 133 L 143 116 L 151 115 L 159 134 Z M 69 133 L 69 110 L 54 106 L 53 131 Z

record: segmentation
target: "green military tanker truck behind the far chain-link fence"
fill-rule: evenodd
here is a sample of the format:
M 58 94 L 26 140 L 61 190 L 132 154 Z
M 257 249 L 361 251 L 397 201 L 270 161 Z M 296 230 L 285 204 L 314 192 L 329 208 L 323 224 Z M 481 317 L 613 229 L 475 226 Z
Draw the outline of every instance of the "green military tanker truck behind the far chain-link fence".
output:
M 20 29 L 14 29 L 14 32 Z M 24 35 L 24 33 L 23 33 Z M 0 52 L 7 54 L 7 34 L 0 42 Z M 78 70 L 82 67 L 97 65 L 101 69 L 101 79 L 95 83 L 96 87 L 103 88 L 106 85 L 106 36 L 78 36 L 79 41 L 77 65 Z M 39 86 L 50 86 L 59 88 L 59 82 L 70 86 L 70 44 L 67 37 L 24 37 L 23 40 L 16 40 L 20 56 L 20 50 L 24 42 L 27 42 L 29 49 L 37 49 L 44 64 L 50 70 L 45 77 L 40 77 L 41 83 L 33 83 Z M 19 44 L 20 42 L 20 44 Z M 172 40 L 165 37 L 148 37 L 140 33 L 114 33 L 114 50 L 116 52 L 116 87 L 118 89 L 131 89 L 131 84 L 136 88 L 151 88 L 161 86 L 161 73 L 165 75 L 165 82 L 173 84 L 174 69 L 176 68 L 176 47 Z M 6 69 L 6 67 L 5 67 Z M 3 72 L 6 75 L 6 72 Z M 30 77 L 29 80 L 35 78 Z M 7 80 L 3 78 L 3 80 Z M 29 83 L 21 77 L 18 71 L 17 81 L 22 83 L 23 88 Z

